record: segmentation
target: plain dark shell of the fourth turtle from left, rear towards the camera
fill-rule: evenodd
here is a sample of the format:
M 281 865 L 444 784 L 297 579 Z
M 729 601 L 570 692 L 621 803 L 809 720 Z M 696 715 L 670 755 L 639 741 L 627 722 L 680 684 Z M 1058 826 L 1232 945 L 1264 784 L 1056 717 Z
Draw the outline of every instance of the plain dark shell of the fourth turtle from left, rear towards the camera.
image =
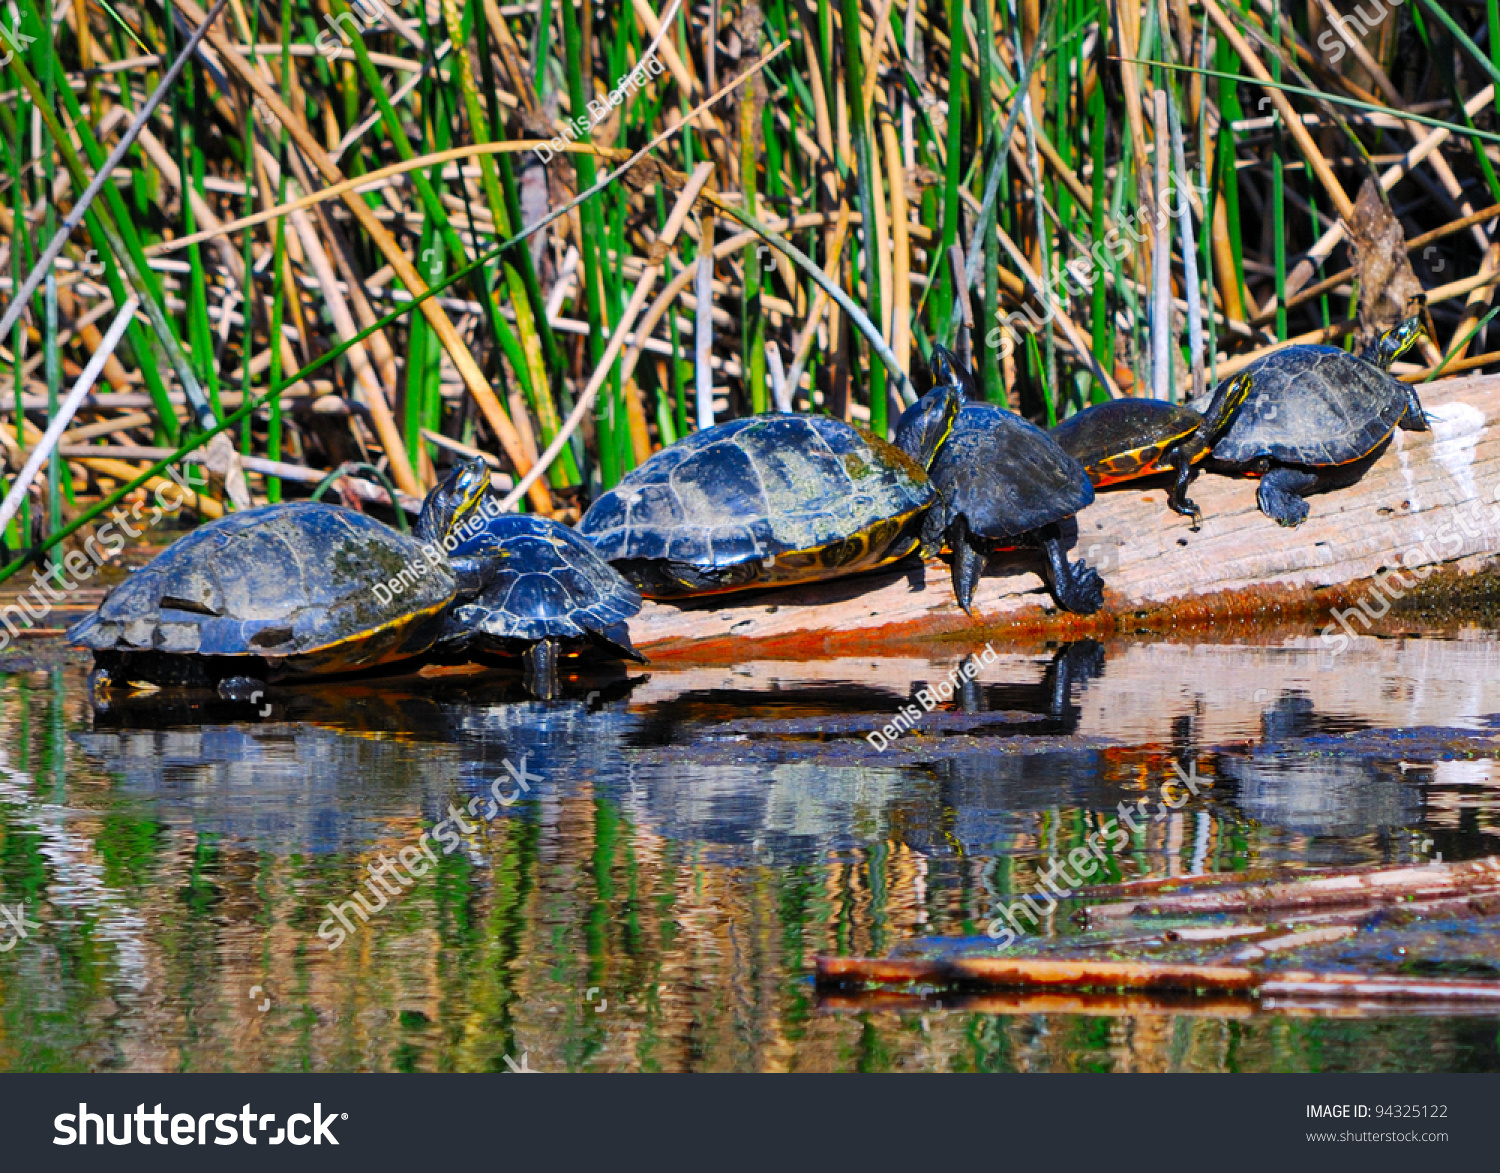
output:
M 1083 465 L 1047 432 L 992 404 L 966 404 L 933 460 L 942 526 L 960 516 L 969 532 L 1017 538 L 1094 502 Z M 928 522 L 932 528 L 938 528 Z

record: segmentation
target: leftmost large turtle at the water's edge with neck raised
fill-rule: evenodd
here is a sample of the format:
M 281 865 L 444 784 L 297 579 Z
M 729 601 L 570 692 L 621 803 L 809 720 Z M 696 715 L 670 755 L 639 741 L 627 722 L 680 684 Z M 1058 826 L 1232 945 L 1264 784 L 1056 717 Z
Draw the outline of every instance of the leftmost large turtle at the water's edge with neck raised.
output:
M 68 632 L 94 682 L 219 684 L 356 672 L 420 656 L 478 584 L 441 543 L 489 489 L 464 460 L 412 532 L 340 506 L 261 506 L 194 530 Z

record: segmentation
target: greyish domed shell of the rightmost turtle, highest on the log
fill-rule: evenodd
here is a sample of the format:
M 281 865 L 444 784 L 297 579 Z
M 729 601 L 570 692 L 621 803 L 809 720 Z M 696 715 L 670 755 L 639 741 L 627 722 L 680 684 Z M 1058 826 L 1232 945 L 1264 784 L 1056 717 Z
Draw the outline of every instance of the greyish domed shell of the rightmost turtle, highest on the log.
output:
M 1299 345 L 1245 368 L 1250 398 L 1214 446 L 1214 459 L 1248 465 L 1342 465 L 1368 456 L 1420 404 L 1378 366 L 1336 346 Z

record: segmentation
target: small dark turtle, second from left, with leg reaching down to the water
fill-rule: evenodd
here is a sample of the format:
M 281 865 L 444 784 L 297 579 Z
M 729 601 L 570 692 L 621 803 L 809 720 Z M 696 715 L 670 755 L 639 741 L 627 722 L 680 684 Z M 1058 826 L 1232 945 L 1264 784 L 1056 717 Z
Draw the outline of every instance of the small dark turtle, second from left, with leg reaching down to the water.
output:
M 536 513 L 494 513 L 448 558 L 472 566 L 484 585 L 448 612 L 441 645 L 519 652 L 532 694 L 556 692 L 558 657 L 568 651 L 596 646 L 646 662 L 626 626 L 640 596 L 568 526 Z

